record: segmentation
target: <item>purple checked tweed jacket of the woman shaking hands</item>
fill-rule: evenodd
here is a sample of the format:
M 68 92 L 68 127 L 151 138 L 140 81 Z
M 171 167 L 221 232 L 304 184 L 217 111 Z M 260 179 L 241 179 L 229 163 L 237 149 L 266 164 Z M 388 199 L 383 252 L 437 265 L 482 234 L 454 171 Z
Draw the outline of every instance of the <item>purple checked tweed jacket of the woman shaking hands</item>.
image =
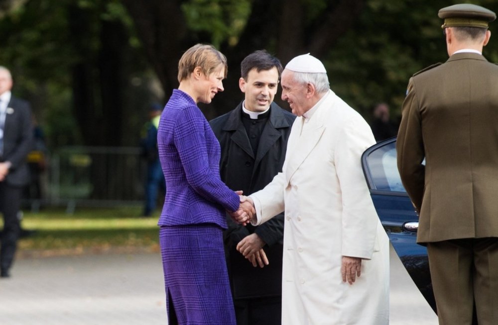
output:
M 227 228 L 225 210 L 239 196 L 220 178 L 220 144 L 195 101 L 174 89 L 157 130 L 166 198 L 159 226 L 215 223 Z

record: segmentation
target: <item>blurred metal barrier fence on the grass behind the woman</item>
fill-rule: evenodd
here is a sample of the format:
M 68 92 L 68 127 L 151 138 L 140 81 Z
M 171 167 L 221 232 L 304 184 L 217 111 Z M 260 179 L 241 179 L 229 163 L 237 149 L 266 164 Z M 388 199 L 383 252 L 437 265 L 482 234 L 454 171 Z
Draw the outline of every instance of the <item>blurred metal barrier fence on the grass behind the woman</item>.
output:
M 39 204 L 117 206 L 143 203 L 146 163 L 139 147 L 63 147 L 51 155 L 42 176 Z

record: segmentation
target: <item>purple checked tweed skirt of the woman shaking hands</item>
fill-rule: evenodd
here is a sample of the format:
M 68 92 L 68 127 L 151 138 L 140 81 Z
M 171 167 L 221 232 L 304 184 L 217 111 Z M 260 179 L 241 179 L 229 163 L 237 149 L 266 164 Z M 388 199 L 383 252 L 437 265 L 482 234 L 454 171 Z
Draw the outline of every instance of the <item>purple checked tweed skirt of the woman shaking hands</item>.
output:
M 169 324 L 236 325 L 223 230 L 215 224 L 163 226 L 159 243 Z

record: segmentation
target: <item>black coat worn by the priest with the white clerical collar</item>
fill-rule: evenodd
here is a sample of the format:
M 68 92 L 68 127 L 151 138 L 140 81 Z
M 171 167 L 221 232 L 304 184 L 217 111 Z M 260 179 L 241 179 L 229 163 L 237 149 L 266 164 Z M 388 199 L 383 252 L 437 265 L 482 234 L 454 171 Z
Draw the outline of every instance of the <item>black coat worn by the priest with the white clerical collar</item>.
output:
M 242 102 L 229 113 L 210 121 L 222 148 L 222 180 L 231 189 L 243 190 L 246 195 L 266 186 L 282 171 L 287 139 L 295 118 L 295 115 L 272 103 L 256 155 L 242 122 Z M 231 218 L 227 218 L 227 222 L 229 229 L 225 232 L 225 247 L 234 298 L 281 295 L 283 213 L 258 227 L 243 227 L 235 224 Z M 252 233 L 256 233 L 267 244 L 263 249 L 270 264 L 263 268 L 254 268 L 235 249 L 243 238 Z

